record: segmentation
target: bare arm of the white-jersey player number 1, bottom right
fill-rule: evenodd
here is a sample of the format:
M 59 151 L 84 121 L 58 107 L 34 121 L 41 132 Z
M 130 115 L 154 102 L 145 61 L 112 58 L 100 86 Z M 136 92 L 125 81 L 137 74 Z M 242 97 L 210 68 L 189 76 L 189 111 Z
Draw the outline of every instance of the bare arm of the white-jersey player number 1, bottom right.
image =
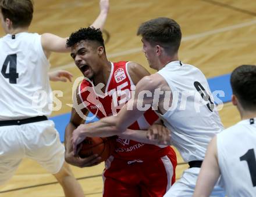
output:
M 211 140 L 205 154 L 204 162 L 195 185 L 194 197 L 210 196 L 212 189 L 220 175 L 216 136 Z

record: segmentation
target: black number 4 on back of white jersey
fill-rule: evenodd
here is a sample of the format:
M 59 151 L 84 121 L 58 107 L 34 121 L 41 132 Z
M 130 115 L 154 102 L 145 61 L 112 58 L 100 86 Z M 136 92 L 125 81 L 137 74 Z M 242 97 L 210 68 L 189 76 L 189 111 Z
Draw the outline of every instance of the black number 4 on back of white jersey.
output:
M 7 67 L 9 64 L 9 73 L 7 73 Z M 19 73 L 17 73 L 17 54 L 9 54 L 1 70 L 1 73 L 4 78 L 9 79 L 9 83 L 16 84 L 17 78 L 19 78 Z

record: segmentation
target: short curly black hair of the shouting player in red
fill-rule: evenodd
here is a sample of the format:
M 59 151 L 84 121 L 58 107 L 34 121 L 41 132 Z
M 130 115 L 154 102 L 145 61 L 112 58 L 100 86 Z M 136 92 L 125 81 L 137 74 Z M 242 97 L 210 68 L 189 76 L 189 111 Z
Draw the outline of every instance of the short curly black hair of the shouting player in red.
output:
M 95 29 L 94 27 L 80 28 L 80 30 L 70 35 L 66 45 L 67 47 L 72 47 L 80 41 L 95 41 L 99 46 L 103 46 L 105 50 L 104 39 L 100 29 Z

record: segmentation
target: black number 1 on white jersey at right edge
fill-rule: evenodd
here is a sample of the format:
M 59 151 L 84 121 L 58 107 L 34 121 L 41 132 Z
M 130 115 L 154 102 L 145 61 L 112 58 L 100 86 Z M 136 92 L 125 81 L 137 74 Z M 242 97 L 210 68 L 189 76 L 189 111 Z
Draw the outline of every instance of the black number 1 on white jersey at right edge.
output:
M 249 167 L 249 172 L 251 175 L 251 181 L 253 182 L 253 187 L 256 186 L 256 159 L 255 159 L 255 154 L 254 154 L 254 149 L 249 149 L 246 154 L 243 156 L 240 156 L 240 160 L 246 160 L 248 167 Z

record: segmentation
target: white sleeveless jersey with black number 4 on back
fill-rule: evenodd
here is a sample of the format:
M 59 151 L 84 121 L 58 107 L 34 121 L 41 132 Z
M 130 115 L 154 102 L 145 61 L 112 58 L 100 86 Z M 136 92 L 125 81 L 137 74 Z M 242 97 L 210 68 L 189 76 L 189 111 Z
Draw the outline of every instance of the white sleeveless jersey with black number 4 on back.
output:
M 41 35 L 5 35 L 0 49 L 0 121 L 50 115 L 49 61 Z

